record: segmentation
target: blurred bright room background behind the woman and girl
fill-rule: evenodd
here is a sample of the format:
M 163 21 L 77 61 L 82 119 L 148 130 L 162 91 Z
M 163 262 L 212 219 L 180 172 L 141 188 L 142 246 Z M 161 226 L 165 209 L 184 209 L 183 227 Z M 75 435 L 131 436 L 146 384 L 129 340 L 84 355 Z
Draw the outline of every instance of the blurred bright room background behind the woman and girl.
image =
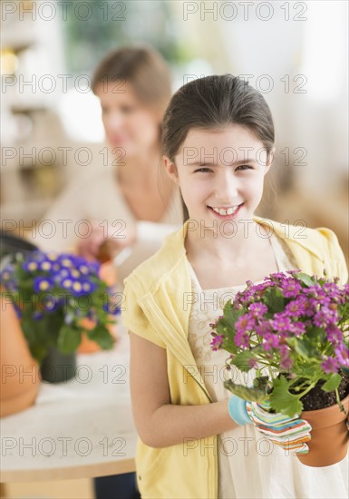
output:
M 277 196 L 269 190 L 259 214 L 329 227 L 347 258 L 347 2 L 0 4 L 3 229 L 34 239 L 66 185 L 108 167 L 92 72 L 112 49 L 147 44 L 170 64 L 173 91 L 233 73 L 264 94 L 276 124 Z M 82 486 L 76 497 L 92 494 Z

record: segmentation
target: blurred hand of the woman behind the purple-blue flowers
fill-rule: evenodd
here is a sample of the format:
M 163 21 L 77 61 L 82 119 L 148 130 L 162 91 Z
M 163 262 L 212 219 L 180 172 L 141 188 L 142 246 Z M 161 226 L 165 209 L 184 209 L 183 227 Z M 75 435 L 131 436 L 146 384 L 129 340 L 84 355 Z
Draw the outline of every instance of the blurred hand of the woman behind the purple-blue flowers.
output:
M 126 227 L 118 238 L 114 234 L 114 229 L 106 231 L 92 225 L 91 235 L 77 244 L 78 255 L 88 260 L 99 259 L 103 263 L 113 259 L 121 249 L 131 246 L 136 240 L 136 229 L 133 226 Z

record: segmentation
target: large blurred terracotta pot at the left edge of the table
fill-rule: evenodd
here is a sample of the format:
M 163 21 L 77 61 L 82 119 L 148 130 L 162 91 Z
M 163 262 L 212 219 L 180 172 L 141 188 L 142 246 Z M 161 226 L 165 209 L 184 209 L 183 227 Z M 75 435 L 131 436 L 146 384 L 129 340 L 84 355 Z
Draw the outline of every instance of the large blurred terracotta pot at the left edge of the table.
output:
M 33 406 L 41 379 L 10 298 L 1 295 L 0 303 L 0 416 L 3 417 Z

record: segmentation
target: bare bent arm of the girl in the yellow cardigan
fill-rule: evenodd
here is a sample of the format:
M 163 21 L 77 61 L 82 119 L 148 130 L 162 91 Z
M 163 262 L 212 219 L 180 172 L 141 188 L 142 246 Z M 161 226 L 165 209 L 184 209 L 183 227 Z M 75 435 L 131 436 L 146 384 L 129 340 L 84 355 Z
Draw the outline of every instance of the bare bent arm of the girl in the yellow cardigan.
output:
M 171 405 L 166 350 L 131 331 L 130 339 L 132 410 L 144 444 L 168 447 L 238 426 L 228 414 L 228 399 L 203 406 Z

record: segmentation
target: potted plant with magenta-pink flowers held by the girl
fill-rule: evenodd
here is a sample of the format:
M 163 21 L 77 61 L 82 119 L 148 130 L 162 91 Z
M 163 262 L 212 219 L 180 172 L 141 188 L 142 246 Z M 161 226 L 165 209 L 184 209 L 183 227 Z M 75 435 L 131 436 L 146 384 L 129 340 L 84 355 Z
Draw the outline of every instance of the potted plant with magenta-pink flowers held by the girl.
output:
M 211 347 L 230 354 L 228 369 L 256 374 L 253 386 L 228 379 L 228 390 L 245 400 L 268 402 L 271 410 L 286 416 L 302 413 L 313 428 L 309 454 L 298 457 L 304 464 L 332 465 L 344 458 L 348 285 L 340 287 L 338 279 L 330 282 L 299 270 L 271 274 L 257 285 L 247 281 L 247 288 L 228 301 L 212 327 Z M 337 434 L 329 434 L 328 443 L 331 418 Z

